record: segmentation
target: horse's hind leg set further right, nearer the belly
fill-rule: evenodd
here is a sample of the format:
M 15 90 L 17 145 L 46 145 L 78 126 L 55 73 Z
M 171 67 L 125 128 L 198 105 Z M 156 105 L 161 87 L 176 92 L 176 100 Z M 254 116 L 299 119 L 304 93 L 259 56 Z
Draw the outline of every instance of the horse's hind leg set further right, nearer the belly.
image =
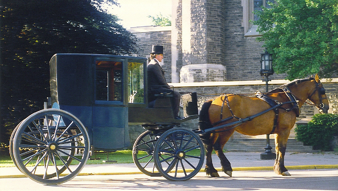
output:
M 214 143 L 214 150 L 216 155 L 221 161 L 222 165 L 222 171 L 225 172 L 225 174 L 229 175 L 230 177 L 232 176 L 232 168 L 229 160 L 225 157 L 223 153 L 223 147 L 225 143 L 229 140 L 230 136 L 234 133 L 235 130 L 230 130 L 223 132 L 221 135 L 218 136 L 218 139 Z

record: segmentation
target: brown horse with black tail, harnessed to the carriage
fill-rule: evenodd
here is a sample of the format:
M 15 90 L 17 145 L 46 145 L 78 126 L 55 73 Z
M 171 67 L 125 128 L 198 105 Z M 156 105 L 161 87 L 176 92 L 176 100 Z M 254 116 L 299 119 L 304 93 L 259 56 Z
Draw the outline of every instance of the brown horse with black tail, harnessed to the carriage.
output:
M 317 74 L 315 78 L 294 80 L 268 93 L 256 94 L 256 97 L 225 94 L 204 103 L 199 115 L 199 129 L 202 132 L 214 129 L 200 135 L 206 149 L 207 175 L 219 176 L 211 160 L 214 149 L 223 172 L 232 176 L 231 164 L 222 150 L 234 131 L 245 135 L 275 134 L 274 171 L 290 175 L 284 166 L 286 144 L 299 115 L 299 108 L 307 99 L 322 113 L 328 112 L 329 102 Z M 224 125 L 229 123 L 233 125 Z

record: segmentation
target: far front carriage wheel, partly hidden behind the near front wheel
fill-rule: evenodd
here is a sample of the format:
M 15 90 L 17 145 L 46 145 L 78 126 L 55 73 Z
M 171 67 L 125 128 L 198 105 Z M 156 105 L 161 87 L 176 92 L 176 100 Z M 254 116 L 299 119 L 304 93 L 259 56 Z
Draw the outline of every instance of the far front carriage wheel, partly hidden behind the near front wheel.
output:
M 149 130 L 145 131 L 136 139 L 132 147 L 132 160 L 134 160 L 137 168 L 148 176 L 161 176 L 160 172 L 155 172 L 156 168 L 153 160 L 156 137 Z M 140 163 L 141 161 L 143 162 L 142 164 Z

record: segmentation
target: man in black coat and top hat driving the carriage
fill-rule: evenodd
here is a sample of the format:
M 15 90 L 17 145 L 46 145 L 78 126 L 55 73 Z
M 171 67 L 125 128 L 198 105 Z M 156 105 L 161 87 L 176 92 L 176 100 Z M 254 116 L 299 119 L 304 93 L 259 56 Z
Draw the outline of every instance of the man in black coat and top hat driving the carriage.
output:
M 167 92 L 173 94 L 173 112 L 176 119 L 180 119 L 178 116 L 180 94 L 177 91 L 173 91 L 168 85 L 164 76 L 164 71 L 160 66 L 160 62 L 163 59 L 163 46 L 152 46 L 152 52 L 150 54 L 150 62 L 147 66 L 148 75 L 148 103 L 155 100 L 154 94 Z

